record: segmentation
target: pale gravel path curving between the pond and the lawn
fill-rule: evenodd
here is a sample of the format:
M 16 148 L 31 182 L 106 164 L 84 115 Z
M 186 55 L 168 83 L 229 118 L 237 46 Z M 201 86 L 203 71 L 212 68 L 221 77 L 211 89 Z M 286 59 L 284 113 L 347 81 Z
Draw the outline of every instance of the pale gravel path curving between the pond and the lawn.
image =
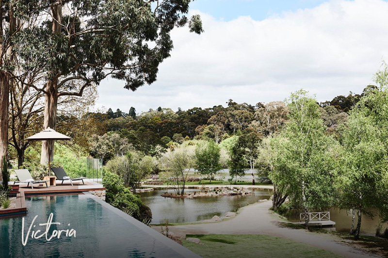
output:
M 258 234 L 288 238 L 297 242 L 322 248 L 348 258 L 380 257 L 363 250 L 358 250 L 330 234 L 307 232 L 303 229 L 291 229 L 278 226 L 283 220 L 268 209 L 272 202 L 266 201 L 243 207 L 233 219 L 208 224 L 169 226 L 169 230 L 177 235 L 184 234 Z M 160 231 L 160 227 L 153 227 Z

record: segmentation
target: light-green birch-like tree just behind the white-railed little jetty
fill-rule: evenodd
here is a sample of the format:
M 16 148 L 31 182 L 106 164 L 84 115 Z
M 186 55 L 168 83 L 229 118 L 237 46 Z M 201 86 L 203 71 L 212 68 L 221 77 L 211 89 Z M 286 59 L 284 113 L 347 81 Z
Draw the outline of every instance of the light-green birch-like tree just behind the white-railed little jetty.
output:
M 287 99 L 290 110 L 286 129 L 280 133 L 276 167 L 270 178 L 274 184 L 288 189 L 294 207 L 307 214 L 312 209 L 324 209 L 334 203 L 334 182 L 337 178 L 335 156 L 339 150 L 325 128 L 319 106 L 307 92 L 291 93 Z M 309 218 L 306 216 L 305 228 Z

